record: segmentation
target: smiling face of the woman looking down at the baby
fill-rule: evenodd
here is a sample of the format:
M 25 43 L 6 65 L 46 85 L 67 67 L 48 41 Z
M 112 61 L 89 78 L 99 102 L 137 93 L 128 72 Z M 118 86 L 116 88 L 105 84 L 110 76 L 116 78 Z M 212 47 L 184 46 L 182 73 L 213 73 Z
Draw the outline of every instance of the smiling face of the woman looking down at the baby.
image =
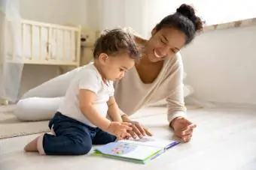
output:
M 155 29 L 151 32 L 151 38 L 145 45 L 145 55 L 151 62 L 163 61 L 170 58 L 184 46 L 186 37 L 175 28 Z

